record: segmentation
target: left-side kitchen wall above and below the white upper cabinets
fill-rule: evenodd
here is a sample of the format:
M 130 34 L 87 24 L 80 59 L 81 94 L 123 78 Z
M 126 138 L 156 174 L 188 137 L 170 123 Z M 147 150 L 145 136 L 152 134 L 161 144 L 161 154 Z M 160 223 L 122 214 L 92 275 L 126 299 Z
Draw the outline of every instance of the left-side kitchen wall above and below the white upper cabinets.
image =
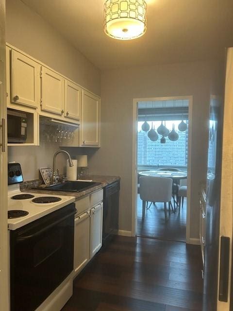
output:
M 6 0 L 6 41 L 100 95 L 100 70 L 20 0 Z M 8 147 L 8 160 L 20 162 L 29 180 L 38 178 L 39 167 L 51 165 L 58 149 L 49 144 Z

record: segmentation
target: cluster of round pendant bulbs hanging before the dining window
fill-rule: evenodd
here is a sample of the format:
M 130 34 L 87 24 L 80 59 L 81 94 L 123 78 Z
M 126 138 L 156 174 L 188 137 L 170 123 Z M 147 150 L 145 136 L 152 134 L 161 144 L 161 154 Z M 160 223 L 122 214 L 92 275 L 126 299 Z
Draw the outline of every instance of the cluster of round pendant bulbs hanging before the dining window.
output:
M 180 132 L 184 132 L 187 129 L 187 124 L 182 120 L 181 123 L 178 125 L 178 129 Z M 159 135 L 162 135 L 162 138 L 160 139 L 161 144 L 166 143 L 166 137 L 171 140 L 171 141 L 176 141 L 179 138 L 179 134 L 175 131 L 175 125 L 173 124 L 172 130 L 169 131 L 168 128 L 166 128 L 166 121 L 161 121 L 160 126 L 157 128 L 157 132 L 154 129 L 153 123 L 150 129 L 150 124 L 145 121 L 142 124 L 142 130 L 144 132 L 148 132 L 148 137 L 150 138 L 151 141 L 156 141 L 159 139 Z

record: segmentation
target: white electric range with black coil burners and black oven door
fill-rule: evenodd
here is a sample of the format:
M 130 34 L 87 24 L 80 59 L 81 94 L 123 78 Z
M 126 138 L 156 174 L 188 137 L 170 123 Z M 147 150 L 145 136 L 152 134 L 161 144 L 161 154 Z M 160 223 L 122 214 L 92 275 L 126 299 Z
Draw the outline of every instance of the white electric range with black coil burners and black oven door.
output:
M 72 295 L 75 198 L 22 192 L 22 181 L 8 163 L 10 310 L 60 311 Z

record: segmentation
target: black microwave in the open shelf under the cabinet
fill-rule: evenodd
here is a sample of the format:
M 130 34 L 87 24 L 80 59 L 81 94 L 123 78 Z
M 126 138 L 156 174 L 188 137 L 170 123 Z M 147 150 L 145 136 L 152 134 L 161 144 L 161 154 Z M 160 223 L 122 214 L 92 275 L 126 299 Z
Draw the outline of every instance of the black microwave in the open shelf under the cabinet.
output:
M 24 143 L 27 139 L 27 115 L 7 110 L 7 142 Z

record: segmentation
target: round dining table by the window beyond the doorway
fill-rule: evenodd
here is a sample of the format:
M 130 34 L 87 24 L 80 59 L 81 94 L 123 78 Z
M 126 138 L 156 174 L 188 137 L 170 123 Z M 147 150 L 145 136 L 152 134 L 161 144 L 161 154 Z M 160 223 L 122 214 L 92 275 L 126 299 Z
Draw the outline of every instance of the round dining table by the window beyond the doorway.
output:
M 166 177 L 172 179 L 172 184 L 177 183 L 180 179 L 187 179 L 187 171 L 159 171 L 159 170 L 151 170 L 151 171 L 143 171 L 138 172 L 140 176 L 154 176 L 154 177 Z M 173 188 L 173 187 L 172 187 Z M 178 187 L 176 187 L 176 193 L 173 193 L 174 204 L 178 206 L 178 202 L 175 200 L 174 194 L 176 194 L 178 198 Z M 175 208 L 175 207 L 174 207 Z

